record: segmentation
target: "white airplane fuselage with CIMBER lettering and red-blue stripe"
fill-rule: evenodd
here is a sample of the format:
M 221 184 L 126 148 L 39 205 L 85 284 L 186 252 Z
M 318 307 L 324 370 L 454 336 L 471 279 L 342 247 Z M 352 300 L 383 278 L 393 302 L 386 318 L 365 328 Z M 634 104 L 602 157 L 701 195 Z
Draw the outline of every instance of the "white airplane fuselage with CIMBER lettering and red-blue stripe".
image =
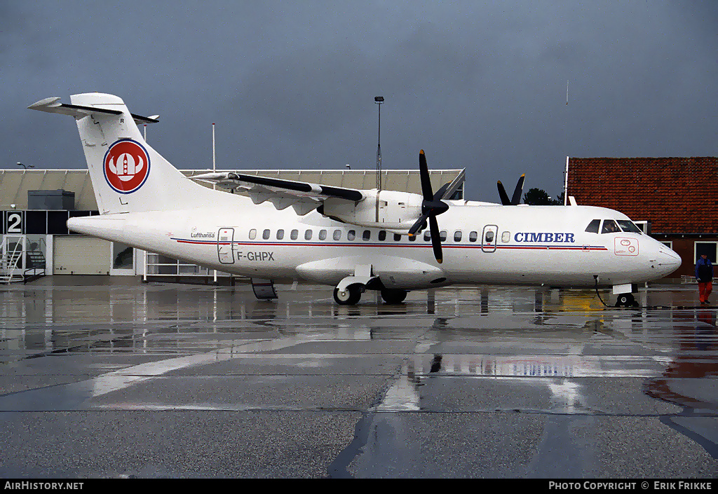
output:
M 595 286 L 595 276 L 600 286 L 610 286 L 658 279 L 679 266 L 673 251 L 643 234 L 586 232 L 594 219 L 628 217 L 588 206 L 452 204 L 439 222 L 446 232 L 442 264 L 426 230 L 414 240 L 386 230 L 380 236 L 380 228 L 340 223 L 316 211 L 300 216 L 251 203 L 73 218 L 68 227 L 232 274 L 328 285 L 357 266 L 370 266 L 386 288 L 399 289 Z

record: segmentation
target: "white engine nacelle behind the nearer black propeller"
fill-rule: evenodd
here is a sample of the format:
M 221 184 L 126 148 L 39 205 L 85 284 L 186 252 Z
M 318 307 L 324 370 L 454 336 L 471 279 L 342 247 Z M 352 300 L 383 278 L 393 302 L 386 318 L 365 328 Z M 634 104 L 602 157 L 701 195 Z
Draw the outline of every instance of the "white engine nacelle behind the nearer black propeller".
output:
M 317 211 L 344 223 L 402 232 L 407 232 L 421 216 L 423 197 L 419 194 L 396 190 L 377 193 L 376 189 L 366 190 L 364 194 L 366 197 L 359 202 L 329 197 Z

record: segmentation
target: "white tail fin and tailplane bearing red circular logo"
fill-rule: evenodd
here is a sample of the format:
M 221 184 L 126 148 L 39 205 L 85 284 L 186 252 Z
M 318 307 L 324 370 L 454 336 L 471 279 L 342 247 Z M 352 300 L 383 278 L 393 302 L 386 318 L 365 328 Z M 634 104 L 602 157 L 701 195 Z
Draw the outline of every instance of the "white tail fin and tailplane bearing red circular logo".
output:
M 194 208 L 222 193 L 188 180 L 149 146 L 137 123 L 157 116 L 134 115 L 117 96 L 83 93 L 69 105 L 47 98 L 28 108 L 75 118 L 101 214 Z

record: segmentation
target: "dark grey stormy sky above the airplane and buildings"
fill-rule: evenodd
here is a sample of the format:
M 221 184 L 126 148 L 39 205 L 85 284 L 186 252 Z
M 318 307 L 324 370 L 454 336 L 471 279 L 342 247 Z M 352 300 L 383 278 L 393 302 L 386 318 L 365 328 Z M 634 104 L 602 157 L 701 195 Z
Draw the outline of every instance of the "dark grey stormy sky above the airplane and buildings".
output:
M 84 167 L 48 96 L 159 113 L 178 168 L 466 168 L 551 195 L 575 157 L 715 156 L 718 1 L 0 1 L 0 167 Z M 569 105 L 566 86 L 569 81 Z

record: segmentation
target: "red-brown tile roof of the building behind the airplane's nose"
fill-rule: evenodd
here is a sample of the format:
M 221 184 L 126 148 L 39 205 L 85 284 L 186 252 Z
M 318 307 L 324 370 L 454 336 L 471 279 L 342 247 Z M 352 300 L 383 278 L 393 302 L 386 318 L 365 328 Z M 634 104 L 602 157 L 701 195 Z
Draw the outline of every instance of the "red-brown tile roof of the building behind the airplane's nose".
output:
M 579 205 L 651 220 L 652 233 L 718 233 L 718 158 L 571 158 Z

